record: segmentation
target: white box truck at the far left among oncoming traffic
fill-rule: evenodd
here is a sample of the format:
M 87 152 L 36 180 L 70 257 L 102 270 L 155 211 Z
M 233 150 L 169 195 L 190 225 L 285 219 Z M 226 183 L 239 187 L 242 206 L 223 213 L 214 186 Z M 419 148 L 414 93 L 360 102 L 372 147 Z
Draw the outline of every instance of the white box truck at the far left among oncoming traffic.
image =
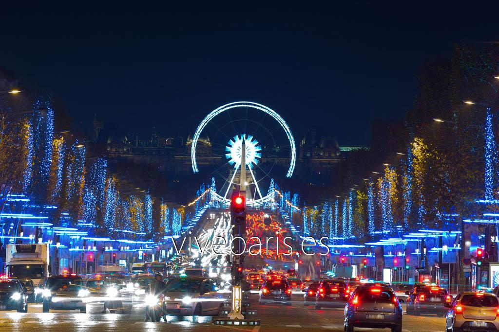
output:
M 31 279 L 35 286 L 43 287 L 49 276 L 48 244 L 7 244 L 6 263 L 9 277 Z

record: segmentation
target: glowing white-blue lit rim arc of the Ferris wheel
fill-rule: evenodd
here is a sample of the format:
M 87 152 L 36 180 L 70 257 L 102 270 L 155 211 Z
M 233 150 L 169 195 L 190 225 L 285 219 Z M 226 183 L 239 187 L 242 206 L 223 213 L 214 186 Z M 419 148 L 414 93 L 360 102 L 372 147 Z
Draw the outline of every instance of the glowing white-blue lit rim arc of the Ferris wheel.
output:
M 225 111 L 239 108 L 239 107 L 250 107 L 256 110 L 263 111 L 267 113 L 268 115 L 272 116 L 274 120 L 276 120 L 286 133 L 287 139 L 289 140 L 289 145 L 291 147 L 291 162 L 289 163 L 289 169 L 287 170 L 286 177 L 290 178 L 291 175 L 293 175 L 294 171 L 294 165 L 296 162 L 296 147 L 294 143 L 294 137 L 293 134 L 291 133 L 291 130 L 289 129 L 289 126 L 287 125 L 286 121 L 277 114 L 277 112 L 273 111 L 272 109 L 258 104 L 258 103 L 253 103 L 253 102 L 234 102 L 234 103 L 229 103 L 226 105 L 223 105 L 219 107 L 216 110 L 211 111 L 204 119 L 201 121 L 200 125 L 196 129 L 196 132 L 194 133 L 194 137 L 192 139 L 192 146 L 191 146 L 191 162 L 192 162 L 192 170 L 194 173 L 198 173 L 198 165 L 196 163 L 196 146 L 198 145 L 198 139 L 199 136 L 201 135 L 201 132 L 203 129 L 206 127 L 206 125 L 213 119 L 215 116 L 219 115 L 220 113 L 223 113 Z

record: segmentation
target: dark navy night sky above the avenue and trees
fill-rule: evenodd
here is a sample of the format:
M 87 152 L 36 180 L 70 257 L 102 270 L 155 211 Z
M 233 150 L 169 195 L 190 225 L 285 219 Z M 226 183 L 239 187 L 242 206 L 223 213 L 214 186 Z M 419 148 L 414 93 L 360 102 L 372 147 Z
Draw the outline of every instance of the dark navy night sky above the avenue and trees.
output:
M 97 113 L 127 131 L 156 125 L 160 134 L 187 135 L 209 111 L 248 100 L 280 113 L 296 140 L 322 126 L 340 144 L 369 144 L 373 119 L 411 108 L 425 63 L 450 58 L 455 42 L 499 40 L 492 1 L 473 10 L 456 1 L 329 2 L 2 4 L 0 66 L 89 129 Z

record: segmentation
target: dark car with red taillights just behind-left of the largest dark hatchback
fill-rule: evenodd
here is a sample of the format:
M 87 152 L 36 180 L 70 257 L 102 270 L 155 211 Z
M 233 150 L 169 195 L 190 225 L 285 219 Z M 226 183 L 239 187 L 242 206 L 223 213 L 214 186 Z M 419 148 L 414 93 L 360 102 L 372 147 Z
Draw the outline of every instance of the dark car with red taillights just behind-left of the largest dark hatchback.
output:
M 323 307 L 342 308 L 350 296 L 350 290 L 343 280 L 323 279 L 315 294 L 315 309 Z

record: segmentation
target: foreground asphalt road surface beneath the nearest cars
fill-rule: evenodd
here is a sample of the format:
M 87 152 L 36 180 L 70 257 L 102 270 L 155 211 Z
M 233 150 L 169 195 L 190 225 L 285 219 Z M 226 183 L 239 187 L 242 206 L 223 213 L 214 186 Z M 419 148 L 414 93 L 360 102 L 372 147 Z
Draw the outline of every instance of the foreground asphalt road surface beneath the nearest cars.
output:
M 343 331 L 343 312 L 339 309 L 314 310 L 303 307 L 301 296 L 293 295 L 292 306 L 257 304 L 251 294 L 251 308 L 257 310 L 261 327 L 254 329 L 215 327 L 211 317 L 168 317 L 168 323 L 144 322 L 142 304 L 131 306 L 125 314 L 101 314 L 102 305 L 87 305 L 87 313 L 50 311 L 42 313 L 41 305 L 30 305 L 28 313 L 0 312 L 0 331 Z M 355 329 L 360 332 L 389 330 Z M 404 315 L 403 332 L 444 332 L 445 318 Z

